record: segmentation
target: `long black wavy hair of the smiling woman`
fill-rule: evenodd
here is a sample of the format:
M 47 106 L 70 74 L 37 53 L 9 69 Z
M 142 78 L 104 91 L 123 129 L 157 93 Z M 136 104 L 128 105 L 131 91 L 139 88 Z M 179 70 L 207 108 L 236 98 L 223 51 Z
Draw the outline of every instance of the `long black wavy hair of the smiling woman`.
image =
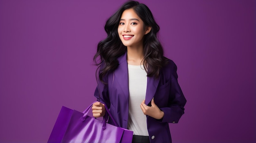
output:
M 144 68 L 148 77 L 159 77 L 161 68 L 167 64 L 167 59 L 164 57 L 162 45 L 157 39 L 159 26 L 155 22 L 150 9 L 137 1 L 128 1 L 124 3 L 106 22 L 105 31 L 106 39 L 100 41 L 97 46 L 97 53 L 94 55 L 94 62 L 98 66 L 99 79 L 103 83 L 103 77 L 110 71 L 114 71 L 119 62 L 117 58 L 127 51 L 127 47 L 121 42 L 117 29 L 122 13 L 126 9 L 133 9 L 135 13 L 144 22 L 144 26 L 151 26 L 151 31 L 144 35 Z M 99 60 L 97 60 L 99 58 Z

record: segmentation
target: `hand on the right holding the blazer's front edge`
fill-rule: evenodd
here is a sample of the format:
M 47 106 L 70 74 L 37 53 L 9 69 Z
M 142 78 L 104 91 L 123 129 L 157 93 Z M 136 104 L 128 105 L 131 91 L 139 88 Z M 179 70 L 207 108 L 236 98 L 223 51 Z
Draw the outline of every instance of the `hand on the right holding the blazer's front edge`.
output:
M 140 108 L 144 115 L 148 115 L 155 119 L 162 119 L 164 117 L 164 112 L 161 111 L 154 102 L 154 98 L 151 101 L 151 106 L 147 106 L 145 104 L 145 100 L 143 100 L 140 104 Z

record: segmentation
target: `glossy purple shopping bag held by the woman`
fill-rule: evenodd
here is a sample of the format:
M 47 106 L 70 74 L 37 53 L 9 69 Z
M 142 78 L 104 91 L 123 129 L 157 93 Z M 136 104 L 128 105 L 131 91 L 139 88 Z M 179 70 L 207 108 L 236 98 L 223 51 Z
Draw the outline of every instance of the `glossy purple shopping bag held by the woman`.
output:
M 110 125 L 106 118 L 100 121 L 88 116 L 91 107 L 92 104 L 82 113 L 63 106 L 47 143 L 132 142 L 132 131 L 117 127 L 117 123 Z M 112 118 L 108 108 L 106 111 Z

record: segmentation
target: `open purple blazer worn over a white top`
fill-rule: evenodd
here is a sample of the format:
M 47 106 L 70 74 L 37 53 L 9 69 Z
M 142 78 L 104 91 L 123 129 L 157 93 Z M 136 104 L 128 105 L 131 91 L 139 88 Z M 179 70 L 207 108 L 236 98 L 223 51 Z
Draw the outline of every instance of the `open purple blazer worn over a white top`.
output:
M 127 128 L 129 87 L 126 53 L 120 56 L 118 61 L 118 68 L 104 79 L 108 85 L 99 82 L 94 96 L 99 99 L 100 91 L 100 102 L 108 106 L 119 127 Z M 162 68 L 159 78 L 147 79 L 146 105 L 150 106 L 154 97 L 155 104 L 164 112 L 164 117 L 160 120 L 146 116 L 150 143 L 171 143 L 168 123 L 178 123 L 184 114 L 186 99 L 178 84 L 176 71 L 177 66 L 169 59 L 168 64 Z M 111 119 L 108 123 L 113 124 Z

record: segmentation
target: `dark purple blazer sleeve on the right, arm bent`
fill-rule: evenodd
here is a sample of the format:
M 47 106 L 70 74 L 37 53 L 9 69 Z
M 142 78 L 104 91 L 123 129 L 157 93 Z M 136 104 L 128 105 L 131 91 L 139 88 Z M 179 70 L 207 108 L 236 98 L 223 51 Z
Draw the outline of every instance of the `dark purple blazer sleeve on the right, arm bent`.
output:
M 182 93 L 180 85 L 178 84 L 177 78 L 177 66 L 172 62 L 171 71 L 171 87 L 169 92 L 169 105 L 168 107 L 160 108 L 164 112 L 162 122 L 178 123 L 182 114 L 184 114 L 184 106 L 186 99 Z

